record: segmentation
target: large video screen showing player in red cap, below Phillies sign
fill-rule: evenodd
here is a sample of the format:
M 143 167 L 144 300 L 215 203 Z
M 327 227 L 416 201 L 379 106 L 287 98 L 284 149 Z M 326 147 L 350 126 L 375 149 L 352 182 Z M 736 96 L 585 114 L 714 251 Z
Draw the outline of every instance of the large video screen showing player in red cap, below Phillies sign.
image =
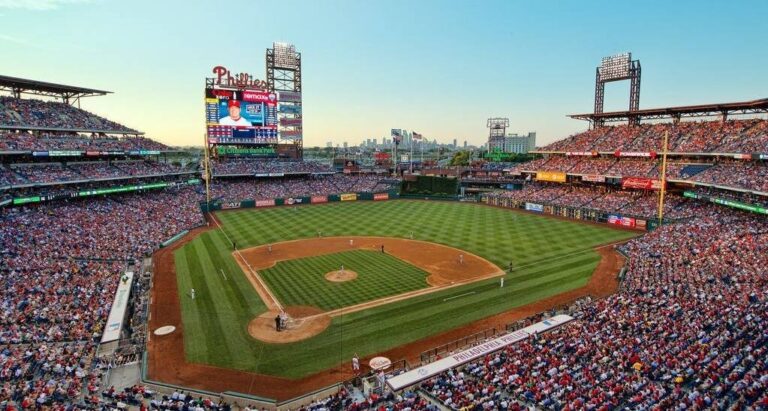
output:
M 208 138 L 277 142 L 277 95 L 257 90 L 207 88 Z

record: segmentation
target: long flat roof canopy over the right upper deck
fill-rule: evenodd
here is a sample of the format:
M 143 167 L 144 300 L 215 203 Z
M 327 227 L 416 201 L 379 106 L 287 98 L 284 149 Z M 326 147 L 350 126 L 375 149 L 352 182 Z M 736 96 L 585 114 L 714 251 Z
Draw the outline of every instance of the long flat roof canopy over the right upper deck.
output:
M 729 114 L 768 113 L 768 98 L 722 104 L 700 104 L 666 108 L 649 108 L 637 111 L 612 111 L 609 113 L 571 114 L 568 117 L 592 122 L 626 121 L 630 118 L 653 120 L 681 117 L 713 117 Z

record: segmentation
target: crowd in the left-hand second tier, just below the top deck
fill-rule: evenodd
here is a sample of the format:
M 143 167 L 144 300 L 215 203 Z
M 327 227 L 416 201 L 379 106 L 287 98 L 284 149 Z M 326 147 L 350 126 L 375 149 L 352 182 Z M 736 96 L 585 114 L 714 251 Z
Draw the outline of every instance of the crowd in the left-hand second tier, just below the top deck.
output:
M 146 137 L 106 135 L 0 133 L 0 151 L 135 151 L 168 150 L 169 147 Z

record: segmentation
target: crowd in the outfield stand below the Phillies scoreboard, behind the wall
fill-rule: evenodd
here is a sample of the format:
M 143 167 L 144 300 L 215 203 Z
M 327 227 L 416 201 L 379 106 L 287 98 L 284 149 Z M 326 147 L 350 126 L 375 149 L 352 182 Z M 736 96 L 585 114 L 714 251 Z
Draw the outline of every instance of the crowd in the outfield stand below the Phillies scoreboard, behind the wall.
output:
M 267 200 L 359 192 L 384 192 L 391 184 L 378 176 L 317 175 L 307 178 L 216 179 L 211 197 L 225 201 Z

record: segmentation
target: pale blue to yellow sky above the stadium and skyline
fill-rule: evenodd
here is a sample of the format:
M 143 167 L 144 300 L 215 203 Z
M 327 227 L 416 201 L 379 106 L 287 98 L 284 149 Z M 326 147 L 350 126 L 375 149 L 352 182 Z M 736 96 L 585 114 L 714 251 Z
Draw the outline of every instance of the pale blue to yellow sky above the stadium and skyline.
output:
M 113 91 L 84 109 L 171 145 L 202 145 L 204 79 L 266 79 L 302 53 L 305 146 L 391 128 L 487 140 L 489 117 L 537 145 L 586 130 L 595 67 L 632 52 L 640 108 L 768 97 L 768 1 L 0 0 L 0 74 Z M 605 111 L 628 107 L 606 86 Z

